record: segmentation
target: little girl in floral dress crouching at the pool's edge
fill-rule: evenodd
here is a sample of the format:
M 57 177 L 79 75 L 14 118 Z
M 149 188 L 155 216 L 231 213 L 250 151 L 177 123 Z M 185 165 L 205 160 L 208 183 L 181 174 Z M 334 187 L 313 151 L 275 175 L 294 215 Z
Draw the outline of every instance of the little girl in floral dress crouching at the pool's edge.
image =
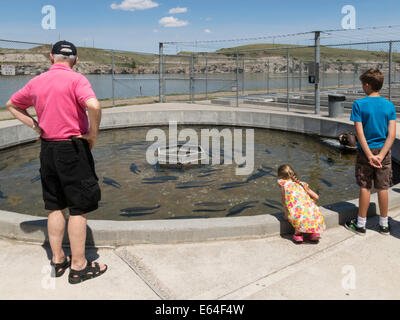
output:
M 326 229 L 324 217 L 315 203 L 318 195 L 307 183 L 301 182 L 287 164 L 278 168 L 277 182 L 281 186 L 284 217 L 295 229 L 293 241 L 302 243 L 303 233 L 309 235 L 309 240 L 318 241 L 320 233 Z

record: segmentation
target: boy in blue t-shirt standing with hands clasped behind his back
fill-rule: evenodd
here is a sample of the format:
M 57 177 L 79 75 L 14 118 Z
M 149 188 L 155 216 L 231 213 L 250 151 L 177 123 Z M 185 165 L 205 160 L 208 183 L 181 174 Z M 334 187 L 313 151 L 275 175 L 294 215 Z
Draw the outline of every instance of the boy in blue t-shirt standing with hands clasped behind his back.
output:
M 354 101 L 350 117 L 358 139 L 355 175 L 360 186 L 360 199 L 357 219 L 347 221 L 345 227 L 365 235 L 373 184 L 378 193 L 379 232 L 388 235 L 388 189 L 392 184 L 390 148 L 396 138 L 396 109 L 379 94 L 384 81 L 381 71 L 369 69 L 360 80 L 367 97 Z

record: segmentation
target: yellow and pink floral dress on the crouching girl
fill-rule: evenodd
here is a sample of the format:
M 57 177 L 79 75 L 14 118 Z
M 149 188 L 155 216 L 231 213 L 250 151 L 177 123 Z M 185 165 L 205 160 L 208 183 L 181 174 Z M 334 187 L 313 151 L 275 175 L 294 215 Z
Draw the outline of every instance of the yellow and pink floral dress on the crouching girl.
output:
M 308 187 L 307 183 L 302 183 Z M 285 189 L 288 220 L 297 232 L 321 233 L 326 229 L 320 208 L 300 184 L 284 179 L 278 179 L 278 184 Z

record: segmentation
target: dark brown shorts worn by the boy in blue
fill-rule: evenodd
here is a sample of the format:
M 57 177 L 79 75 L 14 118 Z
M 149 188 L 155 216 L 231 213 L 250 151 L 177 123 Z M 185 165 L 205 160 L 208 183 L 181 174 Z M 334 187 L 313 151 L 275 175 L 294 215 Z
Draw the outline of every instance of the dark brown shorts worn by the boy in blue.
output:
M 377 155 L 381 148 L 371 149 Z M 392 152 L 389 150 L 382 161 L 382 168 L 375 168 L 368 163 L 362 150 L 357 149 L 356 180 L 361 188 L 372 189 L 372 182 L 377 190 L 389 189 L 392 185 Z

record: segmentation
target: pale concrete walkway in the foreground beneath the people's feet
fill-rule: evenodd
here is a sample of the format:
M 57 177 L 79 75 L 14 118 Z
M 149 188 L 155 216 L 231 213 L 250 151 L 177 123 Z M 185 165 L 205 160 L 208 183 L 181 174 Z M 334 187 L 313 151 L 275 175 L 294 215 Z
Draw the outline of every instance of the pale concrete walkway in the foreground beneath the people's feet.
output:
M 392 232 L 369 219 L 361 237 L 328 229 L 319 244 L 290 236 L 88 249 L 103 276 L 51 278 L 48 249 L 0 240 L 0 299 L 400 299 L 400 209 Z M 67 251 L 68 252 L 68 251 Z

